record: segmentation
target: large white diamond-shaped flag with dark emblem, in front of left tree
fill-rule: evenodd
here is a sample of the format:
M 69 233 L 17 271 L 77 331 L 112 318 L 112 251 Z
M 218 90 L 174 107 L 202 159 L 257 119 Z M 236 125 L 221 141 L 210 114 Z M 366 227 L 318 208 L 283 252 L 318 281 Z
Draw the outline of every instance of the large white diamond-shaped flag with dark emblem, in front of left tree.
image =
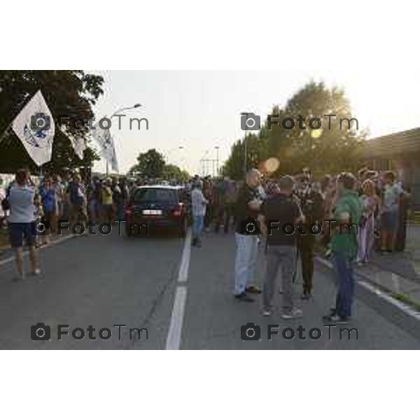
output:
M 36 165 L 51 160 L 55 124 L 41 90 L 20 111 L 12 128 Z

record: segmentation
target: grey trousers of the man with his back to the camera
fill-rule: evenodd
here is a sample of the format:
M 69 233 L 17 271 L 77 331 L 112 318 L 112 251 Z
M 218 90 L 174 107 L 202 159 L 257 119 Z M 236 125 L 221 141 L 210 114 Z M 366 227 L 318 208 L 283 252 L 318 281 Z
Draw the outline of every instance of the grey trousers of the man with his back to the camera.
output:
M 272 300 L 276 288 L 276 278 L 281 267 L 281 289 L 283 290 L 283 312 L 288 313 L 293 309 L 293 273 L 296 265 L 295 246 L 279 245 L 267 248 L 267 271 L 265 272 L 264 289 L 262 298 L 264 309 L 272 307 Z

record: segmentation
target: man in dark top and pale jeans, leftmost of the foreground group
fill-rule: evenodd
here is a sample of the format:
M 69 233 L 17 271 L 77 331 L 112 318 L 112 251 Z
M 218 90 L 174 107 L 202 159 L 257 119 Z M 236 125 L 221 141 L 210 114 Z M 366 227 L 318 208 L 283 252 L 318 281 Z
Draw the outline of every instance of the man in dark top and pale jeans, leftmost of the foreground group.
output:
M 257 169 L 250 169 L 246 174 L 246 183 L 239 190 L 235 203 L 235 238 L 237 254 L 235 259 L 235 297 L 241 302 L 253 302 L 248 293 L 261 293 L 256 286 L 248 286 L 253 279 L 258 256 L 258 211 L 262 204 L 259 186 L 261 174 Z

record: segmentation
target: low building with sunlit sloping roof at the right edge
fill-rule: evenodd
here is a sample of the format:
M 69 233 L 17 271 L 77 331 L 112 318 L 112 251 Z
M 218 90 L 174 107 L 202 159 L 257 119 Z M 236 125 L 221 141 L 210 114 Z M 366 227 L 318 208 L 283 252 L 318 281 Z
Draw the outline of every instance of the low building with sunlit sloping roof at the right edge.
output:
M 363 155 L 370 169 L 395 171 L 420 211 L 420 128 L 367 140 Z

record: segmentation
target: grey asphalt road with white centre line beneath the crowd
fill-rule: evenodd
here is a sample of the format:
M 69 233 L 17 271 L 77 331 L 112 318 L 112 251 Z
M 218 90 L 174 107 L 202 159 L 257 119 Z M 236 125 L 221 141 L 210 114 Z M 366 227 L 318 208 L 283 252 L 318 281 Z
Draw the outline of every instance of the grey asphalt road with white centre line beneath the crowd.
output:
M 302 304 L 300 320 L 283 321 L 279 309 L 262 317 L 260 296 L 253 303 L 235 301 L 233 234 L 205 234 L 203 247 L 191 248 L 189 237 L 168 232 L 126 239 L 114 230 L 109 236 L 72 237 L 39 255 L 41 276 L 27 276 L 20 283 L 10 281 L 13 262 L 0 259 L 0 349 L 420 349 L 419 340 L 381 313 L 380 306 L 372 309 L 358 299 L 346 326 L 356 328 L 358 339 L 356 330 L 350 339 L 344 330 L 340 339 L 339 328 L 325 327 L 321 316 L 331 307 L 335 288 L 332 272 L 320 265 L 314 298 Z M 280 299 L 278 295 L 277 308 Z M 34 342 L 31 325 L 41 322 L 50 325 L 51 339 Z M 241 325 L 247 323 L 260 326 L 260 340 L 241 339 Z M 61 340 L 60 324 L 69 325 L 62 328 L 68 335 Z M 95 330 L 89 332 L 89 325 Z M 271 340 L 268 325 L 278 332 Z M 83 328 L 83 339 L 71 336 L 75 328 Z M 111 338 L 99 338 L 102 328 L 111 330 Z M 133 330 L 130 338 L 130 328 L 146 328 L 147 337 L 146 330 L 140 338 Z M 311 339 L 309 330 L 319 339 Z M 295 338 L 286 339 L 283 332 L 286 337 L 294 332 Z

